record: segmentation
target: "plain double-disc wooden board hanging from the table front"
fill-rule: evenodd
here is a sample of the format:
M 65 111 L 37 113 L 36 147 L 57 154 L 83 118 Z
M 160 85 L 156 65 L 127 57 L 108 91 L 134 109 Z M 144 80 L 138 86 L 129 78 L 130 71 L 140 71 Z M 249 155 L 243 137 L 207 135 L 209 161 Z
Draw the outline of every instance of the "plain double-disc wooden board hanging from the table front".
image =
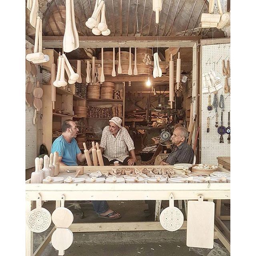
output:
M 59 251 L 58 255 L 64 255 L 64 251 L 68 249 L 74 239 L 69 226 L 74 220 L 72 212 L 64 207 L 65 196 L 62 195 L 60 207 L 56 208 L 52 213 L 52 222 L 56 226 L 56 230 L 52 233 L 52 246 Z

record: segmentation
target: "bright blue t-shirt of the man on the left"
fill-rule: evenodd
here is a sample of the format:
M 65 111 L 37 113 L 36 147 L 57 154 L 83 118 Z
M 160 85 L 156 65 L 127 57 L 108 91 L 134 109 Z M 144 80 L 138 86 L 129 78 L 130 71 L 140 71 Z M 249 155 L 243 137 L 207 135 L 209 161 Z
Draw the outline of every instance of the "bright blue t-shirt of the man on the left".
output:
M 61 161 L 68 166 L 78 165 L 76 155 L 82 153 L 75 138 L 72 138 L 71 142 L 68 143 L 62 135 L 54 140 L 51 151 L 52 153 L 58 151 L 59 156 L 62 156 Z

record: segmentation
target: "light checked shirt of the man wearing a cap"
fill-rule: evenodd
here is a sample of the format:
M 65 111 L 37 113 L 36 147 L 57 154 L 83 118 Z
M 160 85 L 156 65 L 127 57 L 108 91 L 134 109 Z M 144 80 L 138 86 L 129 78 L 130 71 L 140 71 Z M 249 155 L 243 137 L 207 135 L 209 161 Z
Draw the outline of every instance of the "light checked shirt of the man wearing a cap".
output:
M 134 142 L 126 128 L 121 127 L 115 138 L 109 131 L 109 126 L 103 129 L 100 147 L 104 148 L 103 156 L 109 161 L 116 159 L 120 162 L 124 162 L 124 159 L 129 156 L 128 151 L 135 149 Z

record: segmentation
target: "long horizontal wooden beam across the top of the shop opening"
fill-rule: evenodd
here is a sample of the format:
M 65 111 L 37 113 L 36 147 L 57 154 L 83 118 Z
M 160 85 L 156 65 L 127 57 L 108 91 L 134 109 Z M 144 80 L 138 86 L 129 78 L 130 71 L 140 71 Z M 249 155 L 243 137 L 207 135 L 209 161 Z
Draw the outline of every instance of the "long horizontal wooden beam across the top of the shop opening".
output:
M 80 48 L 193 47 L 202 36 L 79 36 Z M 62 48 L 63 36 L 43 36 L 44 48 Z

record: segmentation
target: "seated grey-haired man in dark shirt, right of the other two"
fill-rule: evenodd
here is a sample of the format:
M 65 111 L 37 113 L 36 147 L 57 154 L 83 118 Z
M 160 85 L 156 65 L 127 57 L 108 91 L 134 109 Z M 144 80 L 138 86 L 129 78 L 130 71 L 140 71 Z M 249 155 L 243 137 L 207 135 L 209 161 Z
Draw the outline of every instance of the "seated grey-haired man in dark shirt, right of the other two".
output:
M 186 142 L 188 131 L 184 127 L 177 127 L 172 134 L 172 142 L 175 144 L 174 149 L 167 157 L 166 161 L 160 162 L 165 164 L 192 164 L 194 160 L 194 151 Z

